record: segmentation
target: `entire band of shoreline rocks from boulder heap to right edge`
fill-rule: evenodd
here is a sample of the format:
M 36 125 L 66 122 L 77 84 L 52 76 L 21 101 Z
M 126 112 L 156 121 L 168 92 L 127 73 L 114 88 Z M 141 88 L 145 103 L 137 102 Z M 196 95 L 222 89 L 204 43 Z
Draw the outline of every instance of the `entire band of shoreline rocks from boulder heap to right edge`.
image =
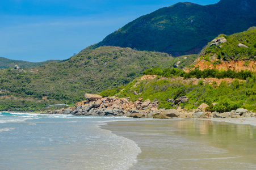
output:
M 75 107 L 62 108 L 56 111 L 48 111 L 44 114 L 73 114 L 75 116 L 127 116 L 133 118 L 244 118 L 244 117 L 255 117 L 256 113 L 249 112 L 247 109 L 237 109 L 236 111 L 216 113 L 216 112 L 205 112 L 205 108 L 208 107 L 207 104 L 201 104 L 197 109 L 192 111 L 187 111 L 178 107 L 177 109 L 160 109 L 158 110 L 158 101 L 151 102 L 149 99 L 142 101 L 141 97 L 139 100 L 132 102 L 129 101 L 129 97 L 120 98 L 119 97 L 104 97 L 95 99 L 94 97 L 89 97 L 79 103 L 75 104 Z M 182 96 L 177 104 L 186 102 L 188 97 Z M 174 101 L 174 100 L 171 100 Z M 174 102 L 175 102 L 174 101 Z

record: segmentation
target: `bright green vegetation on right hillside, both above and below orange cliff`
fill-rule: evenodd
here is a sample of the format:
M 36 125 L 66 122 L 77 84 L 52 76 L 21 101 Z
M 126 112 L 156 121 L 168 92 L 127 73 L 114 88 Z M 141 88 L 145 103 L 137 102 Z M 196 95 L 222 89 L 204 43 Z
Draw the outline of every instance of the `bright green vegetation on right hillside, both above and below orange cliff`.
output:
M 248 31 L 235 33 L 231 36 L 220 35 L 227 41 L 217 46 L 210 42 L 203 50 L 200 59 L 205 62 L 215 62 L 215 65 L 222 61 L 231 60 L 247 60 L 254 61 L 256 56 L 256 29 L 255 27 L 248 29 Z M 238 44 L 244 46 L 238 46 Z M 221 46 L 220 46 L 221 45 Z M 219 60 L 216 60 L 219 58 Z M 209 59 L 209 60 L 207 60 Z M 194 67 L 194 66 L 192 66 Z M 131 100 L 135 101 L 140 97 L 144 100 L 150 99 L 158 100 L 160 108 L 173 108 L 174 103 L 170 103 L 168 99 L 178 99 L 181 96 L 188 96 L 190 99 L 180 106 L 182 108 L 194 109 L 202 103 L 212 105 L 217 103 L 214 107 L 209 107 L 209 111 L 228 112 L 237 108 L 246 108 L 248 110 L 256 111 L 256 73 L 249 70 L 217 70 L 204 69 L 200 70 L 200 66 L 194 70 L 185 72 L 181 69 L 174 68 L 159 68 L 154 67 L 144 71 L 144 74 L 158 75 L 153 80 L 135 79 L 132 83 L 122 88 L 114 88 L 113 90 L 103 91 L 104 95 L 115 95 L 117 97 L 131 96 Z M 177 79 L 177 76 L 183 76 L 183 80 Z M 190 79 L 193 78 L 193 79 Z M 204 83 L 201 79 L 198 84 L 194 84 L 194 78 L 237 78 L 232 83 L 226 83 L 225 80 L 217 86 L 216 82 L 212 84 Z M 240 79 L 240 80 L 238 80 Z M 241 79 L 244 79 L 241 81 Z M 184 83 L 186 82 L 186 83 Z M 137 92 L 135 95 L 134 91 Z M 176 107 L 174 107 L 176 108 Z

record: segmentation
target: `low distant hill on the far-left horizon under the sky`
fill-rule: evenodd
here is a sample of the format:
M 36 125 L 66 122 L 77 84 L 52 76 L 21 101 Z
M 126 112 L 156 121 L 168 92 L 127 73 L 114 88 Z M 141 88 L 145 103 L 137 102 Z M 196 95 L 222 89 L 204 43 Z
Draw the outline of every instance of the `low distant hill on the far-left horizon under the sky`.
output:
M 47 63 L 51 62 L 59 62 L 61 60 L 48 60 L 43 62 L 28 62 L 28 61 L 22 61 L 22 60 L 14 60 L 14 59 L 8 59 L 5 57 L 0 57 L 0 69 L 6 69 L 6 68 L 14 68 L 15 65 L 18 65 L 22 68 L 31 68 L 31 67 L 38 67 L 40 65 L 45 65 Z

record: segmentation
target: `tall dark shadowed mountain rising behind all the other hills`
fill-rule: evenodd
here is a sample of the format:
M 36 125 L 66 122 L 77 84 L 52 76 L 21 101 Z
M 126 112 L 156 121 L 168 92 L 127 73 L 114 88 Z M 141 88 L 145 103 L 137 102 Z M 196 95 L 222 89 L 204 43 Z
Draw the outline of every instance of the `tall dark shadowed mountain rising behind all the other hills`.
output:
M 98 44 L 165 52 L 196 54 L 220 33 L 245 31 L 256 25 L 255 0 L 221 0 L 214 5 L 183 2 L 141 16 Z

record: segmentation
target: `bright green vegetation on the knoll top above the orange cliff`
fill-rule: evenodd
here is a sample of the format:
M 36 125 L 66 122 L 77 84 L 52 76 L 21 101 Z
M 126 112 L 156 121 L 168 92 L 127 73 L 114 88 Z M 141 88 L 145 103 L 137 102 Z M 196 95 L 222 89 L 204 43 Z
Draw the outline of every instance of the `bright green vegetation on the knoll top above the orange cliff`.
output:
M 247 31 L 234 33 L 233 35 L 219 35 L 224 37 L 227 42 L 221 43 L 217 46 L 212 45 L 212 41 L 209 42 L 207 48 L 202 51 L 201 59 L 205 61 L 215 61 L 215 59 L 222 59 L 224 61 L 231 60 L 251 60 L 256 59 L 256 27 L 251 27 Z M 216 39 L 217 39 L 216 38 Z M 244 44 L 244 46 L 238 46 L 238 44 Z M 216 61 L 215 61 L 216 62 Z M 221 63 L 221 61 L 220 61 Z M 216 62 L 215 64 L 219 64 Z M 256 68 L 255 68 L 256 69 Z

